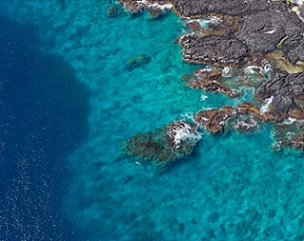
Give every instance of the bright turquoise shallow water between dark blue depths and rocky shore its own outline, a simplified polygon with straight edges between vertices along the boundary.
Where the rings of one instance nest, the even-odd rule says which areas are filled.
[[[79,240],[304,240],[303,155],[273,151],[271,124],[203,132],[165,172],[123,155],[121,143],[138,132],[244,100],[185,85],[181,76],[200,66],[182,61],[175,40],[187,28],[176,15],[132,17],[106,0],[3,0],[0,9],[38,28],[41,51],[61,56],[90,90],[88,137],[62,160],[71,177],[61,212]],[[126,69],[138,54],[151,61]]]

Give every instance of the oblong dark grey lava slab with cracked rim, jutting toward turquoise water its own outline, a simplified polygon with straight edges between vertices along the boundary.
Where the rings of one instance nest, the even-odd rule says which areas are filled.
[[[246,45],[235,38],[209,35],[198,38],[185,35],[179,39],[184,60],[200,64],[240,64],[248,55]]]

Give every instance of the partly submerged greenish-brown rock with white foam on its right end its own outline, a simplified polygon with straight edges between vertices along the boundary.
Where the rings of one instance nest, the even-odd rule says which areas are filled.
[[[153,132],[136,134],[124,143],[124,150],[130,156],[165,167],[191,154],[200,138],[195,125],[176,121]]]

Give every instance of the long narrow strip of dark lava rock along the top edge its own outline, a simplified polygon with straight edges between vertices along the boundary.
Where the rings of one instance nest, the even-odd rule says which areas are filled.
[[[269,8],[267,0],[171,0],[175,10],[184,17],[219,13],[236,16],[257,12]]]

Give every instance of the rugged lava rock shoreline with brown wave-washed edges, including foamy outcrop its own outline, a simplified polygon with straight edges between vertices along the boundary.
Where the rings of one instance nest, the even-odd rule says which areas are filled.
[[[217,134],[224,132],[226,126],[232,126],[240,132],[248,132],[258,128],[262,122],[271,121],[275,123],[274,129],[279,133],[278,143],[285,147],[304,149],[303,128],[297,128],[296,133],[286,137],[280,127],[286,120],[292,119],[296,123],[304,121],[304,7],[299,5],[298,1],[120,2],[132,14],[145,10],[153,17],[158,17],[173,9],[187,21],[191,32],[178,38],[184,61],[213,66],[212,69],[202,67],[195,71],[189,77],[189,86],[237,98],[241,93],[225,81],[227,77],[235,76],[241,80],[238,85],[252,85],[256,88],[252,102],[241,103],[236,107],[223,106],[221,109],[202,110],[195,115],[194,124],[182,122],[183,126],[189,126],[188,132],[185,133],[192,136],[197,132],[195,128],[199,127]],[[208,28],[201,26],[200,21],[203,19],[208,20]],[[256,75],[254,81],[250,74]],[[168,124],[172,125],[180,126],[181,122]],[[300,126],[302,127],[302,124]],[[168,127],[162,130],[167,133],[165,135],[170,136]],[[146,135],[150,134],[138,135],[143,136],[141,139],[136,137],[136,145],[134,137],[128,140],[125,150],[129,155],[143,158],[143,152],[138,150],[138,146],[145,142]],[[175,147],[173,140],[174,138],[166,138],[165,142],[175,151],[189,145],[189,138],[186,137]],[[164,139],[152,145],[163,145],[163,142]],[[189,146],[193,147],[196,142],[197,139]],[[154,148],[150,159],[158,165],[172,163],[173,160],[191,153],[192,148],[186,149],[187,151],[181,151],[181,155],[174,154],[168,161],[161,158],[157,148]]]

